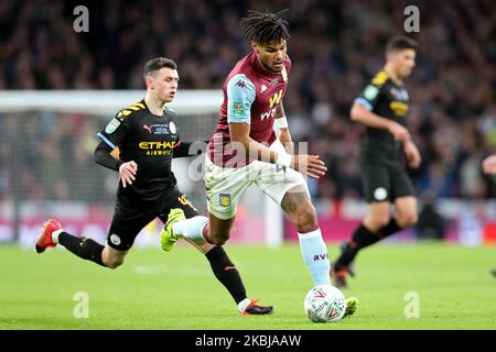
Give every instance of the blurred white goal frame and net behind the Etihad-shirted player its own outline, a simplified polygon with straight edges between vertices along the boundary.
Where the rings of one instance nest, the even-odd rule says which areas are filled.
[[[0,92],[0,242],[32,246],[47,218],[100,243],[114,213],[118,174],[95,164],[93,152],[117,111],[143,98],[142,90]],[[207,141],[217,123],[220,90],[180,90],[169,105],[181,139]],[[176,158],[180,189],[206,215],[204,155]],[[159,245],[160,220],[138,235],[137,246]],[[257,188],[238,206],[230,241],[282,241],[282,215]]]

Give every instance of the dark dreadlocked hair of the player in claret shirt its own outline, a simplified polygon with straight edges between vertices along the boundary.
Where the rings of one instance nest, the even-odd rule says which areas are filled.
[[[280,40],[288,41],[290,38],[288,32],[288,22],[282,20],[282,14],[288,11],[284,9],[277,13],[248,11],[248,16],[239,21],[241,30],[245,32],[249,41],[258,44],[269,44],[279,42]]]

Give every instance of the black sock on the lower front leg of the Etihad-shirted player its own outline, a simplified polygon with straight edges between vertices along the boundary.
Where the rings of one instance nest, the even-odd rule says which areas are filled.
[[[239,276],[238,270],[229,260],[224,249],[216,245],[205,256],[211,262],[215,277],[227,288],[236,304],[247,298],[241,276]]]

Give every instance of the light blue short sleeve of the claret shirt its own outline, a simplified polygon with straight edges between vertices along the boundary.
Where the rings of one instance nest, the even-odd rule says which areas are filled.
[[[251,105],[256,89],[245,75],[236,75],[227,82],[227,122],[251,121]]]

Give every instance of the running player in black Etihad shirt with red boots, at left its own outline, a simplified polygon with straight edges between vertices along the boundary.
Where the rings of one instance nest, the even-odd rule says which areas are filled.
[[[141,229],[157,217],[165,223],[171,209],[177,208],[186,218],[198,216],[177,189],[171,170],[172,157],[190,156],[191,144],[181,143],[175,113],[165,108],[165,103],[175,98],[177,66],[168,58],[153,58],[145,64],[143,78],[145,98],[119,111],[98,133],[101,142],[95,150],[95,161],[118,170],[120,176],[107,244],[104,246],[89,238],[72,235],[56,220],[48,219],[36,241],[36,252],[42,253],[60,243],[84,260],[116,268],[123,263]],[[119,158],[111,155],[117,147]],[[229,290],[241,314],[272,312],[272,307],[258,306],[247,298],[241,277],[222,246],[194,245],[205,254],[215,276]]]

